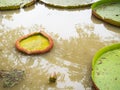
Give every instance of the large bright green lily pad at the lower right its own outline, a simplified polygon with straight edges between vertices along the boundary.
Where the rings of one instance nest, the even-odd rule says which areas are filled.
[[[92,61],[96,90],[120,90],[120,43],[99,50]]]

